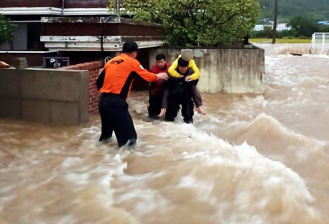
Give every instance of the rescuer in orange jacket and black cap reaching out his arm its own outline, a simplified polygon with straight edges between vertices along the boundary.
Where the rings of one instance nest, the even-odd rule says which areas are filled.
[[[105,64],[96,82],[101,92],[98,106],[101,118],[99,141],[111,138],[114,131],[119,147],[127,143],[132,146],[137,139],[128,104],[125,102],[134,78],[139,75],[148,82],[168,78],[166,73],[154,74],[144,69],[135,59],[137,49],[135,42],[125,42],[122,53]]]

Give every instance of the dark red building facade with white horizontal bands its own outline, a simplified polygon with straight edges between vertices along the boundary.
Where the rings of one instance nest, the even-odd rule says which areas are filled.
[[[66,58],[69,64],[104,60],[117,55],[125,41],[134,40],[148,68],[149,48],[163,45],[163,26],[117,17],[107,4],[108,0],[1,0],[0,13],[15,22],[16,38],[0,45],[0,60],[10,64],[14,57],[26,57],[35,67],[52,66],[52,58]]]

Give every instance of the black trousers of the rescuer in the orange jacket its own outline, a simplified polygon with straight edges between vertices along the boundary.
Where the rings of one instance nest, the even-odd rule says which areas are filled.
[[[128,104],[117,94],[102,93],[99,97],[101,135],[99,141],[112,137],[114,131],[119,147],[136,143],[137,134],[128,111]]]

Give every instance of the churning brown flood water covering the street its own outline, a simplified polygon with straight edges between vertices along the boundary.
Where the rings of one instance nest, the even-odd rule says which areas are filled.
[[[99,144],[99,116],[0,120],[0,223],[328,224],[329,56],[259,46],[264,94],[202,94],[194,124],[151,121],[132,93],[136,151]]]

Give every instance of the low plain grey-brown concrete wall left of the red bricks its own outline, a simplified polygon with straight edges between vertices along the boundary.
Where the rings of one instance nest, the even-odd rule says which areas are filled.
[[[0,69],[0,117],[55,125],[88,122],[88,71]]]

